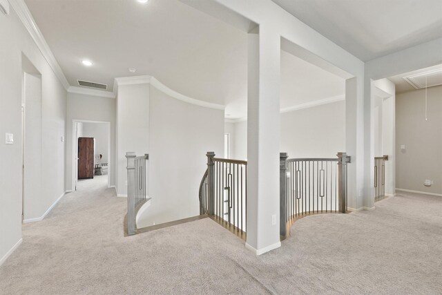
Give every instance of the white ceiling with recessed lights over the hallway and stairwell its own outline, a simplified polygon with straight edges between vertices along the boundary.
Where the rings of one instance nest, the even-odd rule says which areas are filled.
[[[177,0],[25,1],[71,86],[81,79],[112,91],[115,77],[152,75],[183,95],[224,104],[227,117],[247,114],[245,32]],[[282,108],[344,93],[342,78],[282,51]]]

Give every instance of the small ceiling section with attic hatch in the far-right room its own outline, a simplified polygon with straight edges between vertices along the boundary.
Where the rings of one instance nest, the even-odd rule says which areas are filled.
[[[442,85],[442,64],[413,70],[388,79],[396,85],[396,93],[423,89],[425,86],[428,88],[440,86]]]

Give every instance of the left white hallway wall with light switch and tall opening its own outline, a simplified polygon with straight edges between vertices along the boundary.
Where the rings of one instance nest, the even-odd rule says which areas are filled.
[[[41,200],[39,217],[65,191],[61,142],[66,122],[66,90],[32,41],[14,10],[0,14],[0,135],[14,133],[14,144],[0,144],[0,263],[21,239],[21,95],[24,53],[41,73]],[[3,137],[4,138],[4,137]]]

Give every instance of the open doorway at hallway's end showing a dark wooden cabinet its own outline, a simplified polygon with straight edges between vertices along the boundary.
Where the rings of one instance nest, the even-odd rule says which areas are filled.
[[[73,120],[73,188],[110,187],[111,122]]]

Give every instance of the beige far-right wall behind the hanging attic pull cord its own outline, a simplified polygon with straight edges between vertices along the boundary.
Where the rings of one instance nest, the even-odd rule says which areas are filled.
[[[442,86],[396,96],[396,187],[442,195]],[[401,145],[405,150],[401,150]],[[423,185],[433,180],[431,187]]]

